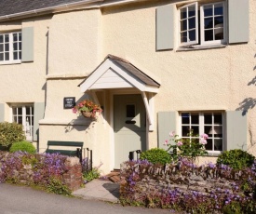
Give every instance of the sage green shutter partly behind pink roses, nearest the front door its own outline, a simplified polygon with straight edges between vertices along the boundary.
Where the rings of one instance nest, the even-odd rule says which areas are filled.
[[[168,149],[164,143],[169,140],[169,132],[176,131],[176,117],[176,112],[158,113],[158,148]]]

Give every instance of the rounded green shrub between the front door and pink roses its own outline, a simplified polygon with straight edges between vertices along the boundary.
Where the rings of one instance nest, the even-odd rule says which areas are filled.
[[[152,164],[165,165],[170,162],[170,154],[164,149],[154,148],[141,153],[141,160],[148,160]]]

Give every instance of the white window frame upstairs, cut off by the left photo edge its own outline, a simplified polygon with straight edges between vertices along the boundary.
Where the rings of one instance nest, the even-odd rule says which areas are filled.
[[[21,51],[21,54],[22,54],[22,50],[21,50],[21,47],[19,48],[19,42],[21,43],[21,46],[22,46],[22,38],[21,40],[19,40],[19,33],[21,34],[20,31],[18,32],[10,32],[10,33],[0,33],[0,35],[3,35],[5,36],[6,34],[9,35],[9,50],[8,50],[8,53],[9,53],[9,60],[0,60],[0,64],[15,64],[15,63],[21,63],[21,58],[19,60],[14,60],[13,59],[13,53],[15,52],[14,48],[13,48],[13,44],[15,43],[14,42],[14,39],[13,39],[13,35],[14,33],[18,33],[18,56],[19,56],[19,51]],[[22,36],[22,34],[21,34]],[[3,42],[3,46],[4,46],[4,50],[3,50],[3,53],[5,54],[5,42]],[[2,53],[2,52],[1,52]],[[19,58],[19,57],[18,57]]]

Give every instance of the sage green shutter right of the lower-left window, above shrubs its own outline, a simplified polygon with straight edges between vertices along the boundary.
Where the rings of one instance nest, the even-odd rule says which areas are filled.
[[[44,118],[45,114],[45,102],[34,102],[34,141],[39,140],[39,120]]]

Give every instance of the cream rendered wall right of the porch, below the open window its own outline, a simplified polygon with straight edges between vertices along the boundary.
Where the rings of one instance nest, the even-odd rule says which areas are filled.
[[[169,1],[159,1],[159,5]],[[193,2],[193,1],[187,1]],[[180,1],[178,1],[181,4]],[[102,9],[102,56],[112,53],[136,61],[161,81],[155,96],[155,116],[160,111],[205,111],[249,109],[248,147],[256,154],[256,112],[251,107],[256,87],[249,82],[256,66],[256,2],[249,1],[249,43],[224,48],[155,51],[155,7],[137,3]],[[176,11],[178,17],[178,11]],[[176,19],[176,47],[178,20]],[[155,124],[155,130],[156,124]],[[150,133],[150,147],[157,145],[156,131]],[[167,136],[168,138],[168,136]]]

